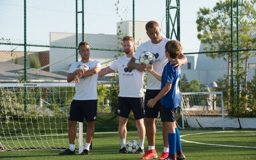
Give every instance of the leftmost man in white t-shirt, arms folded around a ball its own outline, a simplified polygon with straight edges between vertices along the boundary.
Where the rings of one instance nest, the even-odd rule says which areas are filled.
[[[89,154],[89,148],[94,135],[94,122],[97,113],[97,79],[100,72],[100,63],[90,59],[90,46],[87,42],[80,42],[78,45],[79,54],[82,60],[74,62],[68,71],[67,81],[76,81],[76,94],[70,105],[68,120],[69,148],[60,155],[75,154],[76,123],[84,122],[86,119],[86,145],[82,155]],[[79,65],[85,64],[89,70],[77,69]]]

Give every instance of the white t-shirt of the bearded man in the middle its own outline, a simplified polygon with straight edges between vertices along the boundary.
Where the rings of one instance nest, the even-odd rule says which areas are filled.
[[[109,67],[112,70],[118,70],[120,97],[142,97],[143,72],[129,69],[127,63],[130,59],[126,56],[120,57]]]

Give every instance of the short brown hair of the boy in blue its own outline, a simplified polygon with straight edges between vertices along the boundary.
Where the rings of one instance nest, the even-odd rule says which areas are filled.
[[[170,40],[165,44],[165,50],[169,52],[170,58],[176,59],[182,51],[182,45],[178,40]]]

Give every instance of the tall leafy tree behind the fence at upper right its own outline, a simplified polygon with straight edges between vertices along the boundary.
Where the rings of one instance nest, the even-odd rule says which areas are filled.
[[[233,1],[233,15],[236,16],[236,0]],[[239,0],[239,48],[252,49],[256,45],[256,0]],[[197,15],[196,23],[198,25],[198,39],[202,44],[205,44],[204,50],[216,51],[216,50],[231,50],[231,2],[230,0],[220,0],[216,3],[212,9],[200,8]],[[233,21],[233,26],[236,28],[236,19]],[[236,42],[236,29],[233,31],[234,42]],[[234,43],[236,48],[236,43]],[[245,69],[237,68],[236,80],[238,84],[241,84],[241,77],[245,76],[245,83],[247,83],[247,62],[250,56],[254,56],[250,51],[239,52],[241,62],[245,61]],[[217,53],[207,54],[212,58],[224,58],[228,59],[228,86],[230,86],[230,52],[229,53]],[[236,56],[236,53],[234,53]],[[234,58],[234,62],[236,62]],[[244,71],[243,71],[244,70]],[[241,74],[240,72],[245,72]],[[228,89],[229,90],[229,89]],[[244,85],[244,90],[247,90],[247,85]],[[229,92],[228,92],[229,93]]]

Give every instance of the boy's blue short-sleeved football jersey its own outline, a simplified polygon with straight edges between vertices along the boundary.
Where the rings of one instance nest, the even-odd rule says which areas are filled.
[[[161,90],[164,88],[166,82],[172,84],[169,92],[161,98],[161,103],[166,108],[176,108],[180,105],[180,68],[176,70],[176,67],[173,68],[172,66],[170,62],[164,66],[161,79]]]

